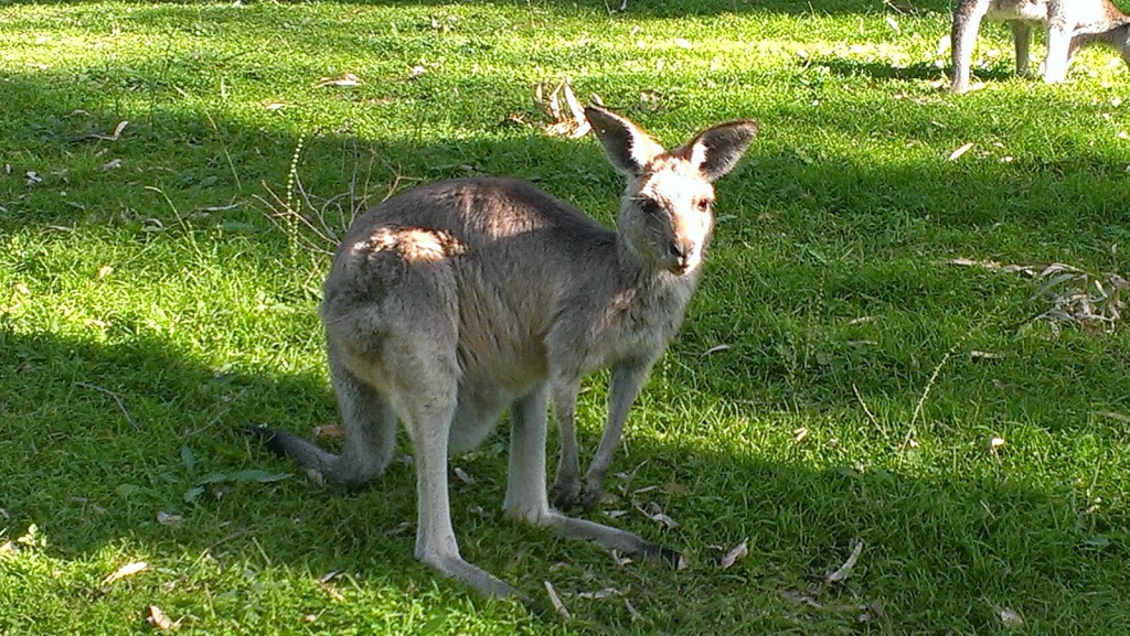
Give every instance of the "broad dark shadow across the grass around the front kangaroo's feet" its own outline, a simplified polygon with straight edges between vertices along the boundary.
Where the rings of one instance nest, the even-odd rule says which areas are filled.
[[[347,572],[362,586],[414,590],[434,578],[411,558],[408,465],[397,462],[351,494],[298,476],[267,483],[234,477],[247,469],[271,479],[292,474],[285,462],[249,450],[236,428],[329,424],[333,403],[320,378],[220,373],[156,338],[92,343],[0,333],[0,359],[9,397],[0,507],[9,535],[34,523],[59,558],[124,546],[174,572],[188,568],[182,576],[192,576],[192,566],[175,555],[207,555],[220,570]],[[593,442],[590,435],[589,448]],[[997,626],[998,604],[1035,618],[1045,607],[1075,611],[1084,595],[1090,618],[1080,618],[1080,628],[1119,616],[1113,608],[1122,599],[1107,585],[1130,561],[1125,530],[1095,525],[1066,493],[956,472],[912,479],[847,463],[812,469],[800,450],[792,460],[767,461],[758,448],[718,454],[636,436],[617,460],[633,476],[610,479],[605,506],[629,514],[609,522],[698,552],[686,572],[618,568],[596,547],[497,517],[504,448],[501,433],[453,460],[476,480],[452,479],[454,523],[464,556],[531,594],[547,580],[572,592],[631,587],[653,626],[696,633],[796,620],[819,631],[869,624],[893,633],[982,633]],[[616,495],[620,487],[627,489]],[[652,502],[681,528],[664,531],[636,514]],[[162,524],[160,513],[182,521]],[[710,547],[747,538],[750,555],[722,572],[721,550]],[[866,546],[857,572],[825,583],[857,539]],[[610,603],[573,603],[598,624],[625,619],[618,603],[611,611]],[[767,613],[749,616],[751,608]]]

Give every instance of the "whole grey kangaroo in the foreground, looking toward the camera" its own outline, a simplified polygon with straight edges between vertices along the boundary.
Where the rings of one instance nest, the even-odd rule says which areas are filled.
[[[460,556],[447,458],[483,442],[506,409],[507,515],[637,557],[680,558],[558,512],[580,491],[574,407],[581,378],[611,367],[607,428],[585,476],[591,498],[697,284],[713,226],[711,183],[737,165],[758,127],[722,123],[667,151],[621,116],[585,114],[627,177],[618,232],[512,178],[443,181],[384,201],[349,228],[321,306],[341,454],[252,428],[328,481],[359,486],[392,458],[399,419],[417,473],[416,557],[487,595],[515,590]],[[562,438],[558,507],[546,489],[550,399]]]

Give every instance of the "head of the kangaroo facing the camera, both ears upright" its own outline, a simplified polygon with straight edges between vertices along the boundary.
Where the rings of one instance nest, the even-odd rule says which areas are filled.
[[[738,164],[757,122],[721,123],[668,151],[615,113],[597,106],[584,113],[609,162],[628,180],[617,219],[621,244],[647,269],[695,271],[714,227],[712,184]]]

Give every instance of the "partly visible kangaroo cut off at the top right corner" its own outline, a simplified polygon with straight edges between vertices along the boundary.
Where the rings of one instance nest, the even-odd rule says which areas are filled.
[[[1032,27],[1037,23],[1048,31],[1044,58],[1044,81],[1048,84],[1067,79],[1071,56],[1090,44],[1106,44],[1118,50],[1130,64],[1130,16],[1111,0],[957,0],[950,36],[954,55],[950,89],[954,93],[970,89],[973,49],[984,18],[1007,21],[1012,28],[1016,71],[1022,76],[1028,75]]]

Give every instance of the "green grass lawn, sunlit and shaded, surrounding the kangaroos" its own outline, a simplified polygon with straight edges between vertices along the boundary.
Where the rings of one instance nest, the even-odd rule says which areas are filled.
[[[1128,275],[1128,71],[1085,51],[1067,85],[1012,78],[990,25],[985,86],[955,97],[947,12],[0,6],[0,631],[159,631],[154,605],[182,634],[1125,633],[1128,330],[1040,319],[1050,279],[991,263]],[[342,73],[360,84],[320,86]],[[268,219],[271,193],[340,226],[390,190],[513,174],[610,221],[597,146],[541,131],[533,87],[564,78],[670,143],[738,116],[762,136],[719,184],[703,287],[605,506],[692,566],[497,519],[503,433],[453,462],[477,480],[453,480],[463,555],[531,611],[412,559],[406,463],[334,493],[237,428],[336,418],[328,259]]]

